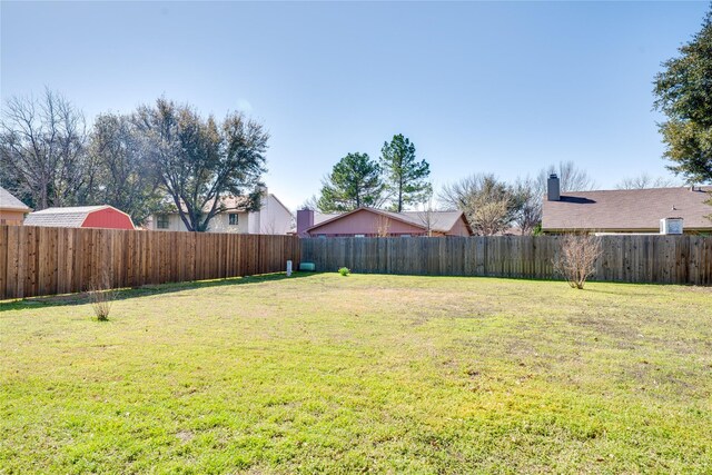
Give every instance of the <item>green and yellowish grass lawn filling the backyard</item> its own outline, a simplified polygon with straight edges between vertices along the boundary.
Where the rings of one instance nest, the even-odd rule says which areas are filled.
[[[338,274],[0,304],[0,473],[712,473],[712,288]]]

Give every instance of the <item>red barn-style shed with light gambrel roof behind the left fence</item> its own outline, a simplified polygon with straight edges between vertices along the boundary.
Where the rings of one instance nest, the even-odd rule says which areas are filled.
[[[136,229],[131,217],[109,205],[47,208],[27,215],[26,226]]]

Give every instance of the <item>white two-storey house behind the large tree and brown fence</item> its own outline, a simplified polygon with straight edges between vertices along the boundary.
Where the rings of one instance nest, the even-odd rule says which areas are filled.
[[[273,194],[265,194],[261,207],[257,211],[247,211],[246,197],[226,197],[220,205],[224,210],[210,219],[208,232],[237,232],[250,235],[286,235],[294,231],[294,215]],[[210,206],[206,206],[206,212]],[[178,212],[167,212],[151,216],[146,229],[186,231],[186,225]]]

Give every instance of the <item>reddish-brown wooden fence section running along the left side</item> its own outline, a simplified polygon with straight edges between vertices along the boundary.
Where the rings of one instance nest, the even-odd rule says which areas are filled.
[[[0,226],[0,298],[281,271],[299,239],[207,232]]]

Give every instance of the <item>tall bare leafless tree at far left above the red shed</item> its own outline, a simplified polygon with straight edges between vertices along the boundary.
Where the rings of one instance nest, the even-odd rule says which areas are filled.
[[[83,115],[61,95],[13,97],[0,121],[0,166],[36,209],[81,204],[93,177],[86,138]]]

